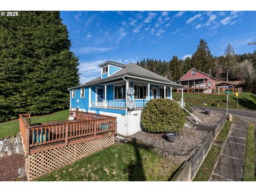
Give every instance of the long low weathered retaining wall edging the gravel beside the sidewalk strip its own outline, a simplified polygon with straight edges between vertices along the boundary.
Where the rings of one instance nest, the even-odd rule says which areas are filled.
[[[196,151],[196,153],[189,159],[189,161],[185,162],[180,170],[174,175],[175,181],[191,181],[194,179],[199,167],[203,163],[208,151],[210,150],[214,139],[219,134],[222,126],[226,122],[226,115],[220,119],[220,121],[214,127],[202,125],[198,126],[198,129],[210,131],[205,140],[203,141],[201,147]]]

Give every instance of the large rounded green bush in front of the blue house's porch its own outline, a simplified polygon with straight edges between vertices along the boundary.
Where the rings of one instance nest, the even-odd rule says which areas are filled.
[[[150,133],[178,132],[185,124],[185,113],[169,99],[149,100],[141,113],[143,129]]]

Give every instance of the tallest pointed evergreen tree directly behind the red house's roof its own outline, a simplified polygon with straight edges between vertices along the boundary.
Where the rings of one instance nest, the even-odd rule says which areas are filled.
[[[206,74],[209,74],[211,70],[211,76],[215,75],[216,68],[214,58],[204,39],[200,40],[196,52],[191,57],[191,67]]]

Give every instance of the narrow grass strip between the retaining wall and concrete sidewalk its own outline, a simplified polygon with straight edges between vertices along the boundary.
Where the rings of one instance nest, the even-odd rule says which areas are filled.
[[[221,143],[226,141],[231,125],[232,125],[232,122],[226,121],[218,137],[215,140],[216,142]],[[212,170],[214,168],[215,163],[218,160],[220,152],[221,152],[221,147],[213,144],[207,156],[205,157],[204,162],[202,163],[201,167],[197,171],[197,174],[194,177],[193,181],[208,181],[210,179]]]

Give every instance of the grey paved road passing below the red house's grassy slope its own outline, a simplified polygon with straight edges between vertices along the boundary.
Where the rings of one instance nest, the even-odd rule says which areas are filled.
[[[203,107],[195,107],[195,108],[203,108]],[[219,110],[219,111],[223,111],[226,113],[226,109],[222,109],[222,108],[205,107],[205,109]],[[256,124],[256,111],[255,110],[228,109],[228,114],[231,114],[232,116],[236,116],[238,118],[244,119],[247,122]]]

